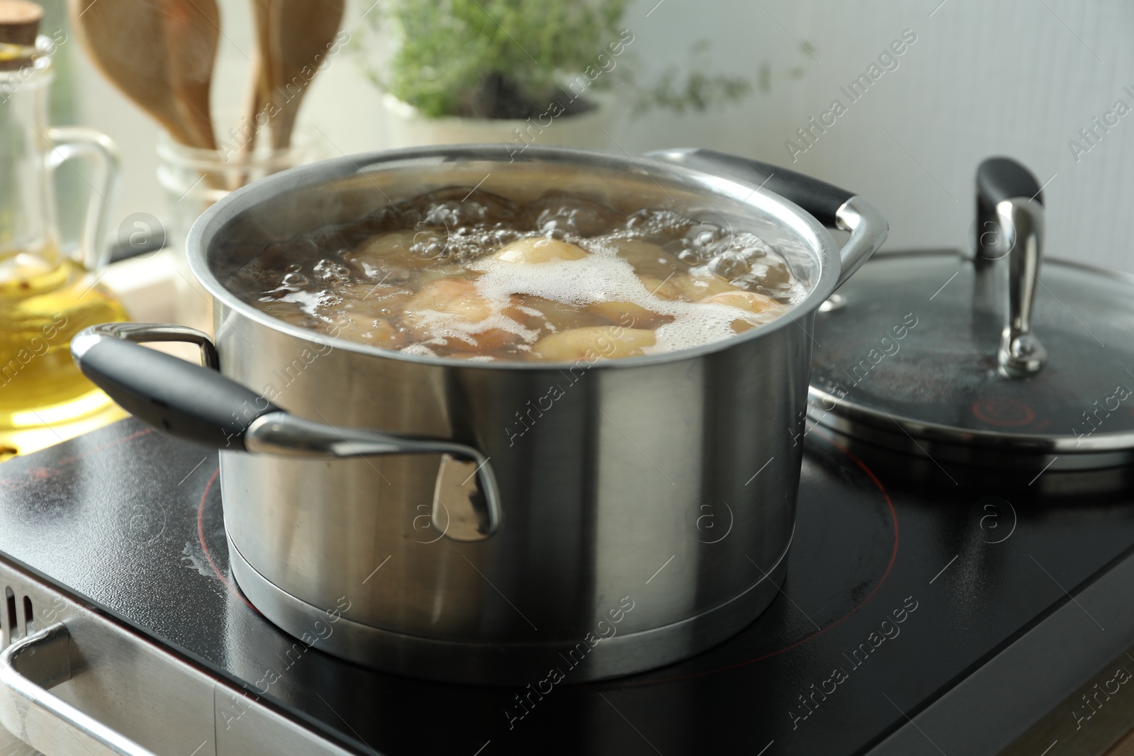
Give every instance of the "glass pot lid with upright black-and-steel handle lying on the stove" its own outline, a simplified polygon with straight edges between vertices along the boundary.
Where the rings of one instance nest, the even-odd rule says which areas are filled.
[[[1134,277],[1041,271],[1042,197],[1017,163],[985,161],[978,196],[975,254],[879,256],[823,305],[809,417],[950,461],[1134,461]]]

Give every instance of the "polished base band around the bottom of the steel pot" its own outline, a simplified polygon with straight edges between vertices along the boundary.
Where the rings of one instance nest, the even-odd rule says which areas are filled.
[[[244,559],[227,529],[226,537],[232,577],[252,605],[288,635],[313,638],[312,647],[340,659],[446,682],[524,685],[545,674],[549,664],[558,663],[560,654],[575,648],[562,642],[501,645],[440,640],[349,620],[282,591]],[[577,668],[572,668],[567,681],[590,682],[644,672],[699,654],[736,635],[779,593],[794,537],[793,525],[776,562],[743,593],[678,622],[604,639],[591,648]],[[328,621],[333,622],[332,632],[325,637],[312,635],[311,628],[316,622]]]

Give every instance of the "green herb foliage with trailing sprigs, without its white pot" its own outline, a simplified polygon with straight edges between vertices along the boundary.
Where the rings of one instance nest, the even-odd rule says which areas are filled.
[[[710,73],[712,43],[700,40],[686,60],[645,80],[634,53],[624,52],[628,42],[611,46],[626,39],[626,6],[627,0],[382,0],[366,20],[372,31],[391,34],[396,52],[382,67],[364,60],[363,68],[375,85],[429,118],[534,118],[581,80],[584,90],[618,82],[635,114],[702,112],[768,93],[776,78],[804,74],[803,65],[775,71],[767,62],[748,76]],[[359,39],[356,51],[365,53],[365,44]],[[802,52],[810,50],[802,43]],[[577,102],[585,110],[586,96]]]

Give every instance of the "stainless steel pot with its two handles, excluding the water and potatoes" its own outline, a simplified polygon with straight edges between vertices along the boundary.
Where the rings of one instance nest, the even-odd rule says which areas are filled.
[[[696,349],[485,364],[324,337],[225,287],[266,244],[454,185],[711,216],[759,233],[809,294]],[[841,253],[820,220],[852,231]],[[138,417],[221,449],[232,574],[297,643],[439,680],[592,680],[708,648],[775,597],[814,314],[886,231],[862,197],[705,151],[359,155],[257,181],[196,223],[215,350],[191,329],[108,324],[73,352]],[[220,373],[128,343],[147,340],[195,341]]]

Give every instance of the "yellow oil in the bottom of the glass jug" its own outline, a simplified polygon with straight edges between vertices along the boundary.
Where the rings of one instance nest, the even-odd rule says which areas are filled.
[[[76,333],[125,320],[121,303],[69,258],[41,252],[0,260],[0,459],[126,416],[70,356]]]

